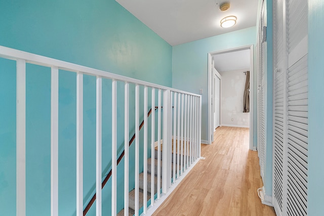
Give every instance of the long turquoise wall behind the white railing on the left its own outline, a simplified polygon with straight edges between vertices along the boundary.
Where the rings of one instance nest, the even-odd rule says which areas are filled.
[[[1,46],[172,85],[172,47],[113,0],[1,1],[0,14]],[[15,68],[14,61],[0,59],[0,215],[16,214]],[[27,64],[26,70],[26,211],[27,215],[50,215],[50,69]],[[60,215],[75,215],[75,79],[75,73],[59,71]],[[110,161],[110,88],[111,81],[103,80],[103,172]],[[121,83],[117,89],[118,96],[124,94]],[[95,183],[95,91],[95,78],[85,76],[84,203]],[[130,92],[134,93],[134,86]],[[123,127],[123,100],[117,100],[119,127]],[[134,122],[132,96],[131,100]],[[141,97],[141,107],[142,103]],[[118,132],[118,150],[124,145],[122,134],[124,131]],[[117,172],[123,178],[123,171]],[[103,214],[110,212],[109,185],[103,190],[103,201],[108,203],[103,205]],[[93,214],[94,208],[90,210]]]

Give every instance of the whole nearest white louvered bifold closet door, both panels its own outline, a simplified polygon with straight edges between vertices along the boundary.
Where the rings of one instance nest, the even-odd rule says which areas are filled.
[[[307,10],[305,0],[273,3],[273,60],[277,69],[274,72],[273,204],[277,215],[307,215]],[[284,34],[280,33],[281,25]],[[283,46],[280,40],[284,41]]]

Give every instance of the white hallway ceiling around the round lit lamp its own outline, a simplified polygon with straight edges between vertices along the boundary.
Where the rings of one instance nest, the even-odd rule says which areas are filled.
[[[170,45],[184,44],[256,25],[258,0],[116,0]],[[219,6],[229,2],[227,11]],[[217,4],[217,6],[216,6]],[[231,28],[220,27],[226,16],[236,16]]]

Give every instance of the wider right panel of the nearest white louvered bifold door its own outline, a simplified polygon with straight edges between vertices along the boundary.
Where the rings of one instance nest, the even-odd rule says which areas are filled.
[[[308,6],[288,0],[287,31],[287,214],[307,215],[308,180]]]

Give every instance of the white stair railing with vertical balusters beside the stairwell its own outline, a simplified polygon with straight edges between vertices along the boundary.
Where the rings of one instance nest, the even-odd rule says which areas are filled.
[[[170,195],[174,188],[185,177],[200,157],[200,131],[201,131],[201,96],[184,91],[164,87],[105,71],[84,67],[44,56],[14,50],[0,46],[0,58],[12,59],[17,62],[17,103],[16,103],[16,214],[26,214],[26,63],[42,65],[51,68],[51,215],[58,215],[58,109],[59,109],[59,70],[76,73],[76,215],[84,214],[84,143],[83,137],[83,75],[96,77],[96,215],[101,215],[102,209],[102,80],[109,79],[111,88],[111,215],[116,215],[120,210],[117,206],[117,164],[118,157],[117,133],[121,128],[117,126],[117,82],[124,84],[124,131],[125,138],[125,167],[124,167],[124,208],[129,207],[129,133],[135,128],[135,215],[142,211],[144,215],[150,215]],[[135,85],[135,95],[130,95],[130,84]],[[142,90],[143,89],[143,90]],[[151,97],[149,97],[150,93]],[[135,97],[135,125],[131,125],[129,118],[130,98]],[[140,103],[141,98],[143,102]],[[141,112],[142,108],[143,111]],[[155,107],[157,106],[157,113]],[[0,108],[1,109],[1,108]],[[151,109],[150,121],[147,110]],[[0,110],[1,111],[1,110]],[[144,118],[144,136],[141,140],[139,123],[140,117]],[[150,122],[150,127],[148,126]],[[150,133],[149,133],[150,132]],[[161,139],[161,137],[163,139]],[[149,140],[151,142],[149,143]],[[157,143],[157,146],[156,146]],[[141,148],[140,148],[141,146]],[[143,148],[142,148],[143,146]],[[155,173],[155,147],[157,147],[157,176]],[[140,150],[143,152],[140,153]],[[160,153],[162,152],[162,153]],[[140,154],[143,158],[140,158]],[[147,159],[151,155],[151,170],[147,169]],[[143,160],[143,167],[140,161]],[[173,163],[172,163],[173,162]],[[162,170],[160,169],[162,167]],[[139,200],[139,174],[144,171],[143,208],[140,211]],[[151,184],[147,185],[148,171],[151,171]],[[157,185],[154,184],[157,178]],[[161,180],[161,184],[160,184]],[[118,180],[119,181],[119,180]],[[157,187],[155,189],[155,187]],[[147,195],[148,188],[150,194]],[[156,193],[155,193],[156,191]],[[147,203],[147,199],[150,202]],[[148,206],[148,207],[147,207]],[[129,215],[128,210],[124,215]]]

